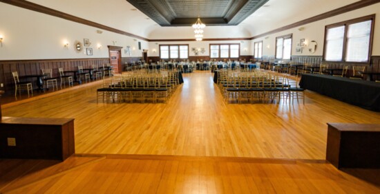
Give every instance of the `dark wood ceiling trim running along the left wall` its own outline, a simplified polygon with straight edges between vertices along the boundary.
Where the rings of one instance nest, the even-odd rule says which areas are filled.
[[[115,32],[117,34],[123,34],[123,35],[126,35],[126,36],[131,36],[131,37],[136,38],[136,39],[141,39],[141,40],[144,40],[144,41],[149,41],[149,39],[146,39],[146,38],[144,38],[142,36],[137,36],[135,34],[131,34],[129,32],[125,32],[125,31],[122,31],[122,30],[117,30],[116,28],[111,28],[111,27],[108,27],[106,25],[102,25],[100,23],[95,23],[93,21],[88,21],[86,19],[75,17],[73,15],[66,14],[64,12],[59,12],[57,10],[53,10],[53,9],[50,9],[50,8],[46,8],[44,6],[40,6],[40,5],[36,4],[36,3],[32,3],[32,2],[29,2],[29,1],[22,1],[22,0],[0,0],[0,2],[8,3],[8,4],[12,5],[12,6],[17,6],[19,8],[25,8],[27,10],[32,10],[32,11],[35,11],[35,12],[41,12],[41,13],[48,14],[48,15],[53,16],[53,17],[59,17],[61,19],[66,19],[66,20],[69,20],[69,21],[74,21],[74,22],[77,22],[77,23],[82,23],[84,25],[89,25],[89,26],[92,26],[92,27],[95,27],[95,28],[99,28],[99,29],[102,29],[102,30],[107,30],[107,31],[110,31],[110,32]]]

